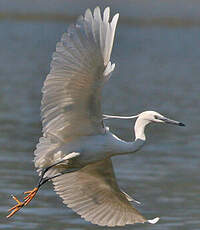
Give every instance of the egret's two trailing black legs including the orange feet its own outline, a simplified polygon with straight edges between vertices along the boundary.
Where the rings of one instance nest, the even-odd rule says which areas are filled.
[[[22,207],[26,206],[28,203],[30,203],[30,201],[35,197],[35,195],[37,194],[39,188],[45,184],[47,181],[55,178],[55,177],[58,177],[58,176],[61,176],[65,173],[70,173],[70,172],[74,172],[74,171],[77,171],[77,169],[73,170],[65,170],[63,172],[60,172],[60,173],[57,173],[56,175],[52,176],[52,177],[44,177],[46,172],[53,168],[54,166],[56,165],[59,165],[63,162],[65,162],[66,160],[68,159],[71,159],[71,158],[74,158],[74,157],[77,157],[79,156],[80,153],[76,153],[76,152],[73,152],[73,153],[70,153],[68,154],[67,156],[65,156],[62,160],[46,167],[45,169],[42,170],[42,173],[41,173],[41,176],[40,176],[40,179],[39,179],[39,182],[38,182],[38,185],[33,189],[33,190],[30,190],[30,191],[26,191],[24,192],[24,194],[27,194],[25,197],[24,197],[24,201],[21,202],[19,201],[15,196],[12,196],[12,198],[17,201],[17,205],[15,205],[14,207],[12,207],[11,209],[8,210],[8,212],[11,212],[9,215],[7,215],[7,218],[10,218],[12,217],[17,211],[19,211]]]

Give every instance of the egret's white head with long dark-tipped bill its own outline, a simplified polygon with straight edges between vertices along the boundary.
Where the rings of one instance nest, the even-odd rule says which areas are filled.
[[[143,113],[140,113],[139,118],[143,119],[147,123],[154,122],[154,123],[164,123],[164,124],[185,126],[182,122],[171,120],[155,111],[145,111]]]

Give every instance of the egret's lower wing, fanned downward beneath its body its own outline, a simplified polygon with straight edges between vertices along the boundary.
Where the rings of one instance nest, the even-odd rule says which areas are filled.
[[[85,220],[101,226],[123,226],[148,221],[120,191],[110,159],[53,179],[63,202]]]

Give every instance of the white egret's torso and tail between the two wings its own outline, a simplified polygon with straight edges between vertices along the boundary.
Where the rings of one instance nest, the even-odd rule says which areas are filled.
[[[44,137],[41,139],[42,143],[43,141]],[[48,167],[55,161],[61,161],[72,152],[80,153],[80,155],[78,159],[72,158],[69,160],[70,167],[77,167],[78,165],[83,167],[89,163],[104,160],[112,156],[133,153],[139,150],[143,144],[144,140],[141,139],[137,139],[137,141],[134,142],[123,141],[106,129],[104,134],[83,136],[76,140],[70,140],[67,143],[58,142],[54,145],[54,151],[51,149],[47,152],[45,161],[41,161],[41,163],[40,159],[36,161],[36,167]],[[44,157],[42,159],[44,159]],[[68,167],[68,165],[66,165],[66,167]]]

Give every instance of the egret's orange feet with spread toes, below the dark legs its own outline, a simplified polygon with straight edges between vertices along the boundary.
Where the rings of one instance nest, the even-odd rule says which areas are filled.
[[[34,196],[36,195],[38,191],[38,188],[34,188],[33,190],[31,191],[27,191],[27,192],[24,192],[24,194],[28,194],[27,196],[24,197],[24,201],[21,202],[17,199],[17,197],[15,196],[12,196],[12,198],[17,201],[17,205],[15,205],[14,207],[12,207],[11,209],[8,210],[8,212],[11,212],[7,218],[10,218],[11,216],[13,216],[17,211],[19,211],[23,206],[26,206],[33,198]]]

